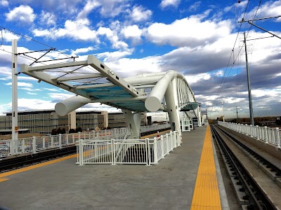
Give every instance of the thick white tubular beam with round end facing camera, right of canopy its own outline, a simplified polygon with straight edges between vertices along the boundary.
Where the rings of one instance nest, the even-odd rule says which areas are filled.
[[[153,87],[148,98],[145,100],[145,108],[148,111],[158,111],[162,106],[162,100],[171,80],[176,76],[175,71],[168,71]]]

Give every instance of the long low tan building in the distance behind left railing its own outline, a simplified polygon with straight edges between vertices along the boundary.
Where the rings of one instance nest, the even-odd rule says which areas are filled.
[[[142,113],[141,125],[148,125],[146,113]],[[95,130],[96,127],[126,127],[124,113],[107,111],[72,111],[67,116],[58,116],[54,110],[19,111],[18,129],[20,132],[51,134],[60,128],[66,131],[81,127],[81,130]],[[11,133],[12,114],[0,116],[0,134]]]

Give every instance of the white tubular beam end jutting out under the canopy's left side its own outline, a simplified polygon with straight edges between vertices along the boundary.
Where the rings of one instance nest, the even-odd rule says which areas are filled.
[[[55,104],[55,112],[59,116],[65,116],[67,115],[67,113],[70,113],[75,109],[78,109],[79,107],[84,106],[85,104],[88,104],[90,102],[91,99],[87,99],[81,96],[74,96],[64,100],[63,102],[59,102],[58,104]]]

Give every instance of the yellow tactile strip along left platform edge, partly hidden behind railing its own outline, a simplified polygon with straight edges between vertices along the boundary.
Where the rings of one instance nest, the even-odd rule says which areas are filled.
[[[167,131],[164,131],[164,132],[167,132]],[[164,132],[159,132],[159,134],[164,133]],[[141,137],[141,139],[145,139],[145,138],[151,137],[153,135],[155,135],[155,134],[150,134],[148,136]],[[50,160],[48,162],[41,162],[41,163],[39,163],[37,165],[31,165],[29,167],[23,167],[21,169],[15,169],[15,170],[13,170],[11,172],[4,172],[4,173],[0,174],[0,182],[8,180],[6,178],[3,178],[5,176],[10,176],[10,175],[18,174],[18,173],[21,173],[21,172],[26,172],[26,171],[31,170],[31,169],[36,169],[36,168],[39,168],[39,167],[44,167],[46,165],[51,165],[51,164],[53,164],[55,162],[60,162],[60,161],[67,160],[67,159],[70,159],[70,158],[77,158],[77,154],[69,155],[69,156],[66,156],[66,157],[63,157],[63,158],[58,158],[58,159],[55,159],[55,160]]]

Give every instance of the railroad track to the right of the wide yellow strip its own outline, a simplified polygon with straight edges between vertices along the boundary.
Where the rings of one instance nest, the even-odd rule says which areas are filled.
[[[279,167],[219,127],[212,125],[211,132],[242,209],[279,209]]]

